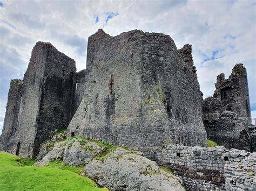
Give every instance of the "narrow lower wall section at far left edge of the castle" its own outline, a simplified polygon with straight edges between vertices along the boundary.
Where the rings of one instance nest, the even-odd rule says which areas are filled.
[[[17,131],[18,112],[21,104],[23,91],[23,81],[19,79],[11,80],[8,93],[8,103],[4,118],[4,127],[1,135],[2,148],[1,151],[6,151],[9,148],[11,136]]]

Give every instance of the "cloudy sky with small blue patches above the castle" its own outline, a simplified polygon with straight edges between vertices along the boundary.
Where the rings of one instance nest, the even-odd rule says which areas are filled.
[[[256,117],[256,1],[12,1],[0,0],[0,134],[11,79],[23,79],[33,46],[50,42],[86,67],[87,39],[98,29],[111,36],[139,29],[169,34],[177,48],[192,44],[200,89],[212,96],[216,76],[247,68]]]

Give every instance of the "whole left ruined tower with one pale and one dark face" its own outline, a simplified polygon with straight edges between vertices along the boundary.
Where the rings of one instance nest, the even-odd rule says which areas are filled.
[[[2,135],[3,150],[32,157],[51,131],[68,126],[75,61],[50,43],[33,47],[22,80],[12,80]]]

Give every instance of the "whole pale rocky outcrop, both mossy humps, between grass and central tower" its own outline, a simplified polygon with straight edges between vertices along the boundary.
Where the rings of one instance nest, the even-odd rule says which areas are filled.
[[[180,178],[142,153],[82,137],[57,142],[36,165],[62,160],[84,165],[85,174],[111,190],[185,190]]]

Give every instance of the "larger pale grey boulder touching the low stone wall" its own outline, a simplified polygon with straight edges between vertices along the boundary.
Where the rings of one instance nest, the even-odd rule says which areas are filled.
[[[111,190],[184,190],[181,179],[136,152],[117,148],[85,166],[87,176]]]

